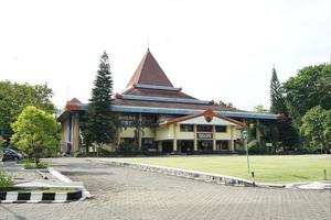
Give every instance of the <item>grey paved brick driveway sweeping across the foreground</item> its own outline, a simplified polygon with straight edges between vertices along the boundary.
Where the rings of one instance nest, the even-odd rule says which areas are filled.
[[[0,219],[331,219],[331,191],[222,186],[114,167],[82,158],[51,160],[95,199],[0,205]]]

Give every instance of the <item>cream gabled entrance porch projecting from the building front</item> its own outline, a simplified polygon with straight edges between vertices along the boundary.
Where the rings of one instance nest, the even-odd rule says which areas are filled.
[[[156,131],[158,151],[166,153],[234,152],[246,124],[206,110],[164,121]]]

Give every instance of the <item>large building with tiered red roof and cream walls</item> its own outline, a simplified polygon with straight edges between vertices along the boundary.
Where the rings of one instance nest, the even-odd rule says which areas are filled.
[[[87,109],[78,99],[68,101],[61,122],[62,151],[82,148],[82,120]],[[259,142],[260,122],[274,123],[276,114],[242,111],[199,100],[175,88],[150,51],[146,53],[127,88],[114,98],[113,111],[121,128],[106,147],[129,144],[151,152],[235,152],[243,147],[242,131],[253,129],[250,141]]]

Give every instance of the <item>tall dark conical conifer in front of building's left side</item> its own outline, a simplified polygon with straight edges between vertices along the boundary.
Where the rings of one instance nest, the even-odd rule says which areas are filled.
[[[104,52],[83,125],[86,152],[88,152],[88,146],[92,143],[103,144],[114,141],[118,119],[116,113],[111,111],[111,106],[113,77],[108,55]]]

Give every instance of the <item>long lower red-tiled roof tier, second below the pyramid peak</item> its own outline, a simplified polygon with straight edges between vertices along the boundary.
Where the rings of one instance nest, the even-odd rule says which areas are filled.
[[[174,109],[193,109],[213,111],[241,111],[234,108],[222,107],[217,105],[199,105],[199,103],[178,103],[178,102],[162,102],[162,101],[143,101],[143,100],[128,100],[116,98],[114,105],[117,106],[134,106],[134,107],[151,107],[151,108],[174,108]],[[244,112],[244,111],[241,111]]]

